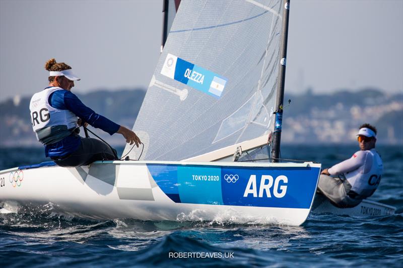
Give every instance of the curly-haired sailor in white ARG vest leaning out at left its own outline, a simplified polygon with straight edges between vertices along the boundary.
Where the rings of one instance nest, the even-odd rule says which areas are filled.
[[[97,160],[115,160],[116,151],[108,144],[79,136],[79,127],[90,124],[113,135],[120,133],[127,143],[139,137],[131,130],[95,113],[71,92],[74,81],[80,80],[72,68],[55,59],[45,64],[49,86],[35,93],[30,102],[32,128],[38,141],[45,146],[45,155],[59,166],[88,165]]]

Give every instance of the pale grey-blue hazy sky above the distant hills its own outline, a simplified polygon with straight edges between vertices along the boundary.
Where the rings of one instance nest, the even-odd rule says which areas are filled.
[[[162,15],[162,0],[0,0],[0,101],[42,90],[52,57],[76,92],[147,88]],[[403,92],[403,1],[292,0],[285,87]]]

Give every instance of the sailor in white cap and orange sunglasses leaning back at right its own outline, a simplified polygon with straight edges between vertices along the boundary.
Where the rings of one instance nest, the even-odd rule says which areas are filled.
[[[376,128],[363,124],[357,134],[360,151],[341,163],[323,169],[318,189],[340,208],[352,208],[377,189],[383,172],[382,159],[375,150]]]

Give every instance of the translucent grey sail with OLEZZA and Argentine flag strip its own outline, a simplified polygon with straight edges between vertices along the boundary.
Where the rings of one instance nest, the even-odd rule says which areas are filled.
[[[280,0],[181,1],[133,127],[141,159],[183,160],[267,140],[283,9]]]

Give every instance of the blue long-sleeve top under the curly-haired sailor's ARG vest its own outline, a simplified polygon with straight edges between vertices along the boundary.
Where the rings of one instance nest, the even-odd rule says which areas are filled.
[[[53,108],[60,110],[70,110],[76,116],[93,126],[100,128],[110,135],[119,130],[119,125],[95,113],[92,109],[85,106],[76,95],[70,91],[59,90],[49,96],[49,104]],[[68,155],[80,146],[81,138],[79,136],[68,136],[53,144],[45,145],[45,155],[50,157],[61,157]]]

